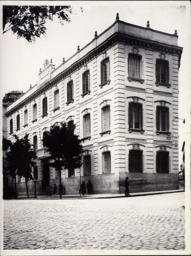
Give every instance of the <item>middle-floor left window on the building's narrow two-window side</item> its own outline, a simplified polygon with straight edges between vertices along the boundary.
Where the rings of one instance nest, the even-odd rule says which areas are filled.
[[[142,129],[142,105],[129,103],[129,129]]]

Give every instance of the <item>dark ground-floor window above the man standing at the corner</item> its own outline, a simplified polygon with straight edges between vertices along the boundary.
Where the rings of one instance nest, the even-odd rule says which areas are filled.
[[[129,172],[143,172],[143,153],[140,150],[129,150]]]

